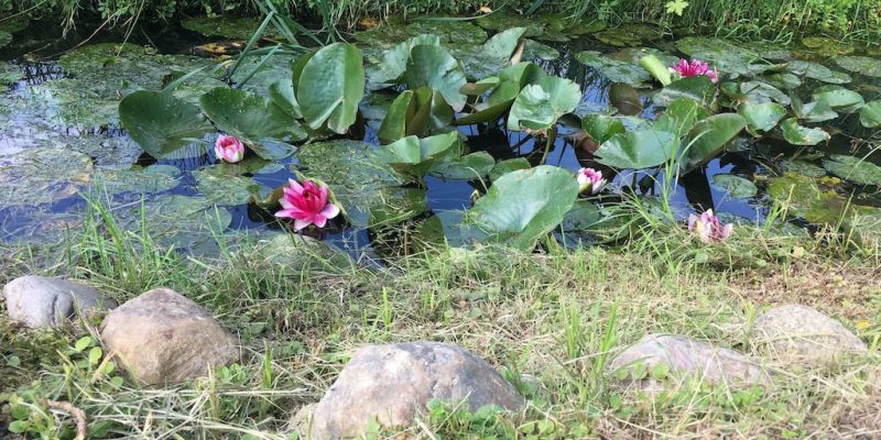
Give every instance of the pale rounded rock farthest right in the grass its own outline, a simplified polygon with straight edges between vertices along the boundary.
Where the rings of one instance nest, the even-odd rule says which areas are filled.
[[[765,311],[752,327],[753,343],[774,361],[824,367],[847,354],[866,353],[864,342],[819,311],[786,305]]]

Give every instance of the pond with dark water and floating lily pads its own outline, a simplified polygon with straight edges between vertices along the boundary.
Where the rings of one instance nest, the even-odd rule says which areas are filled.
[[[61,37],[55,26],[41,22],[0,24],[0,32],[12,35],[11,42],[0,47],[0,84],[4,88],[0,96],[0,182],[6,188],[0,195],[0,240],[57,241],[76,233],[95,215],[95,202],[99,202],[123,229],[135,233],[146,230],[161,243],[184,251],[211,253],[224,238],[236,241],[242,235],[291,231],[291,224],[278,221],[270,207],[273,190],[300,174],[329,184],[346,211],[345,220],[340,216],[326,228],[307,228],[303,233],[355,256],[382,257],[411,252],[417,243],[437,241],[438,237],[467,242],[474,231],[450,230],[472,208],[475,197],[485,194],[503,172],[535,167],[542,160],[573,175],[580,167],[597,168],[609,180],[599,195],[581,196],[574,205],[569,201],[574,209],[566,213],[561,228],[561,221],[550,228],[542,226],[558,232],[566,245],[608,242],[614,235],[609,229],[620,222],[603,219],[620,216],[616,207],[621,200],[638,196],[654,206],[651,204],[667,189],[674,219],[679,221],[692,212],[714,209],[726,222],[762,224],[775,204],[785,204],[792,221],[780,223],[776,216],[773,219],[774,228],[788,233],[839,224],[841,220],[861,231],[878,231],[881,223],[881,154],[875,152],[881,140],[881,57],[871,48],[816,37],[794,45],[737,43],[672,35],[650,24],[609,30],[596,22],[559,24],[553,18],[523,22],[500,15],[476,23],[409,24],[392,20],[388,25],[347,35],[363,54],[368,91],[358,105],[357,119],[338,131],[342,134],[323,128],[322,133],[311,131],[309,143],[300,135],[305,132],[261,139],[260,146],[254,146],[259,155],[254,150],[239,164],[224,164],[208,147],[218,131],[210,125],[199,130],[170,107],[174,111],[166,109],[155,118],[166,121],[166,128],[178,123],[178,131],[195,133],[197,139],[182,135],[171,150],[171,141],[164,139],[161,154],[146,153],[150,147],[143,138],[132,140],[118,112],[120,101],[135,90],[159,90],[186,73],[203,69],[175,88],[174,99],[193,108],[202,103],[211,121],[221,127],[219,119],[231,118],[220,114],[227,110],[206,108],[202,98],[215,89],[229,89],[224,80],[268,96],[280,78],[291,77],[290,64],[297,56],[284,51],[263,64],[259,57],[249,58],[231,73],[233,63],[224,62],[228,56],[218,52],[241,50],[241,40],[247,40],[258,21],[228,21],[196,19],[162,29],[135,28],[130,34],[101,32],[88,41],[88,35],[75,32]],[[489,40],[518,24],[523,28],[513,37]],[[580,98],[573,92],[568,98],[557,97],[575,99],[574,108],[555,114],[550,130],[509,130],[503,121],[496,123],[502,113],[490,123],[458,125],[464,140],[460,154],[427,167],[420,173],[424,178],[403,178],[398,173],[401,169],[377,167],[373,155],[377,145],[390,143],[383,139],[388,134],[383,119],[407,88],[395,80],[402,73],[394,70],[388,54],[423,34],[437,35],[436,43],[463,62],[469,85],[479,85],[475,80],[486,77],[498,80],[500,72],[503,81],[508,70],[502,69],[511,52],[521,51],[518,56],[522,61],[533,62],[550,77],[563,78],[545,81],[546,87],[574,84]],[[262,44],[272,46],[273,38],[278,35],[270,33]],[[120,45],[123,41],[127,44]],[[429,45],[434,43],[417,47]],[[433,51],[423,52],[434,56]],[[504,56],[496,57],[500,51]],[[704,59],[722,78],[719,84],[710,84],[706,77],[697,77],[706,84],[685,78],[662,87],[653,78],[651,66],[640,63],[646,55],[664,67],[679,57]],[[428,89],[434,106],[438,90],[443,90],[437,81],[445,79],[433,73],[425,75],[429,77],[426,84],[434,89],[434,98]],[[486,90],[494,90],[491,87],[496,85],[488,85]],[[707,90],[711,90],[709,98]],[[482,94],[485,98],[475,108],[490,107],[486,105],[487,94],[490,91]],[[238,97],[215,95],[217,102],[243,106],[236,101]],[[461,120],[474,116],[469,109],[478,95],[442,95],[440,101],[456,109]],[[468,102],[457,106],[459,98]],[[684,175],[672,187],[665,185],[663,166],[640,166],[633,156],[639,155],[633,148],[654,140],[639,134],[621,135],[618,141],[591,139],[597,135],[586,122],[590,119],[583,120],[588,114],[611,116],[627,133],[644,134],[651,132],[653,121],[659,123],[660,116],[674,114],[670,109],[682,98],[714,112],[739,108],[747,130],[739,127],[736,136],[721,142],[725,148],[707,155],[707,161],[701,156],[682,165]],[[138,109],[149,105],[129,102]],[[548,107],[554,103],[548,102]],[[250,121],[250,129],[242,123],[227,124],[242,132],[262,133],[273,122]],[[199,119],[198,124],[207,122]],[[548,131],[556,136],[545,144]],[[443,130],[431,134],[439,132]],[[429,133],[421,134],[424,139]],[[692,141],[703,142],[697,138]],[[616,142],[618,153],[631,156],[612,158],[616,152],[609,148]],[[546,157],[545,146],[550,146]],[[627,161],[637,163],[628,166]],[[394,165],[391,160],[387,163]],[[565,193],[553,186],[543,190]],[[501,197],[492,195],[497,196]],[[512,197],[505,204],[529,209],[530,200]],[[553,197],[546,201],[553,204]]]

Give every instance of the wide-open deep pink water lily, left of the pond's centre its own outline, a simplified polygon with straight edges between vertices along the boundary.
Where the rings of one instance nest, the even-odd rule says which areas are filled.
[[[309,224],[324,228],[328,219],[339,215],[339,208],[327,201],[327,185],[303,180],[303,185],[294,179],[289,179],[284,187],[284,195],[279,202],[282,210],[275,217],[294,219],[294,229],[297,231]]]

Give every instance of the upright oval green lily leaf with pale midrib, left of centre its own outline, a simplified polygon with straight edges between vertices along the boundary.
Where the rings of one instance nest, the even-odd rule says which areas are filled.
[[[347,43],[334,43],[316,52],[296,82],[300,108],[309,128],[318,130],[326,123],[340,134],[355,123],[363,91],[361,53]]]

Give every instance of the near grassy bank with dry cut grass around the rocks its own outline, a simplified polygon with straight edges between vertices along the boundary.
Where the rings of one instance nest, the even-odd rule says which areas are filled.
[[[95,439],[292,438],[292,416],[320,398],[354,348],[433,340],[487,359],[530,404],[513,417],[436,408],[411,431],[421,438],[879,432],[877,254],[842,254],[829,241],[771,238],[749,228],[710,246],[668,226],[644,232],[623,248],[559,254],[442,250],[382,270],[333,266],[317,257],[275,265],[248,246],[220,257],[185,257],[107,222],[77,232],[63,252],[7,248],[3,283],[29,273],[67,275],[120,302],[172,287],[238,333],[244,355],[195,383],[141,388],[119,371],[108,372],[100,358],[88,359],[98,321],[52,333],[0,321],[0,425],[29,420],[29,438],[72,438],[72,420],[46,408],[46,400],[68,400],[87,414]],[[674,385],[654,400],[621,393],[603,374],[616,348],[650,332],[757,354],[746,323],[786,302],[841,319],[875,354],[831,373],[780,366],[766,388]]]

